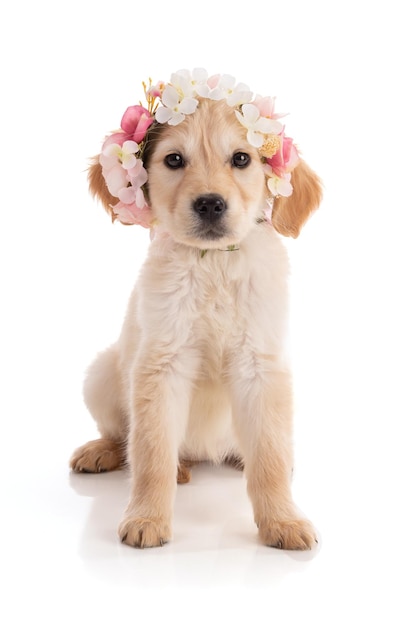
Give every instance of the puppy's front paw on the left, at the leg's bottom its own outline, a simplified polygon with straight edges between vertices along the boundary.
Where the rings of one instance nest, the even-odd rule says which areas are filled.
[[[163,546],[171,537],[170,526],[159,519],[127,517],[119,526],[122,543],[135,548]]]

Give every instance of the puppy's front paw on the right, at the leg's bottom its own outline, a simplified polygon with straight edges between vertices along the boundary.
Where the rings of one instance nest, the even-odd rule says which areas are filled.
[[[310,550],[316,533],[307,520],[272,521],[259,525],[259,536],[267,546],[283,550]]]

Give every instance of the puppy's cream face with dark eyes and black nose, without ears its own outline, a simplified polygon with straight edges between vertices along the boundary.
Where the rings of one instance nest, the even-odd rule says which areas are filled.
[[[201,100],[178,126],[160,127],[150,146],[148,199],[164,230],[201,249],[240,242],[268,191],[258,151],[234,110]]]

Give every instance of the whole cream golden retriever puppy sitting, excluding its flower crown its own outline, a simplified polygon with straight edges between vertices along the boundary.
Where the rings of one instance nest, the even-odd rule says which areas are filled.
[[[235,114],[240,105],[194,100],[180,123],[155,116],[147,129],[143,189],[154,237],[121,335],[85,380],[101,438],[76,450],[71,468],[129,466],[119,536],[143,548],[170,540],[176,483],[189,480],[193,463],[231,462],[244,468],[262,542],[308,549],[315,531],[290,488],[288,260],[279,233],[298,236],[321,185],[299,159],[287,178],[293,193],[273,199],[269,220],[273,194],[262,151]],[[98,157],[89,181],[114,215]]]

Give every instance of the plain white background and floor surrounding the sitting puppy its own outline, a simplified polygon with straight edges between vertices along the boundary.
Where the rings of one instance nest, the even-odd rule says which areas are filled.
[[[404,623],[400,3],[3,3],[2,623]],[[119,332],[147,247],[87,192],[87,157],[180,68],[290,112],[324,181],[292,260],[294,494],[320,545],[259,545],[243,477],[199,467],[174,541],[121,546],[122,473],[71,476],[96,436],[83,373]]]

